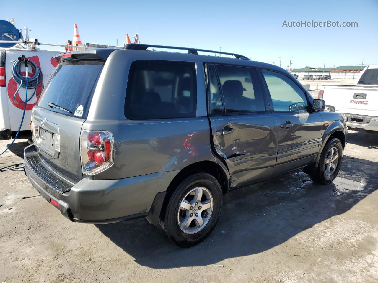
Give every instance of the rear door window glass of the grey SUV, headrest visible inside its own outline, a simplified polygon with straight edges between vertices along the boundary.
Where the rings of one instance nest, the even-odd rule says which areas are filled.
[[[217,65],[226,113],[265,111],[263,94],[253,68]]]

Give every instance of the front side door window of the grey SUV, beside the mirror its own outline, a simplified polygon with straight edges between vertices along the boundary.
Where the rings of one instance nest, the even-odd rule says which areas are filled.
[[[306,111],[306,95],[290,78],[279,72],[262,70],[274,111]]]

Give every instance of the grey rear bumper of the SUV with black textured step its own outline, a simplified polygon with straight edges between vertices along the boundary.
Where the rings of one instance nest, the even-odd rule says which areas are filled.
[[[65,182],[56,172],[50,171],[42,160],[38,158],[39,167],[43,166],[50,174],[41,174],[34,169],[35,166],[30,166],[27,158],[32,156],[38,158],[34,145],[24,149],[25,174],[31,184],[65,217],[80,223],[105,224],[143,217],[147,217],[150,223],[155,223],[153,217],[158,217],[164,200],[162,195],[165,196],[170,181],[178,172],[158,172],[116,180],[83,178],[69,191],[64,191],[51,185],[49,180],[44,180],[51,180],[53,174],[55,183]],[[59,207],[51,200],[58,203]]]

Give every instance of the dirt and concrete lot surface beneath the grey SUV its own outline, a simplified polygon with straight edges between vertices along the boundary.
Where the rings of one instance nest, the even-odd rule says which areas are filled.
[[[26,145],[17,140],[1,167],[22,162]],[[231,192],[214,232],[190,249],[145,219],[72,223],[24,172],[1,172],[0,281],[378,282],[377,149],[378,135],[350,132],[333,184],[295,171]]]

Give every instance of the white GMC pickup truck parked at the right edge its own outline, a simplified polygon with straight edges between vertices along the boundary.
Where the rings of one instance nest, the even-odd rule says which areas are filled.
[[[367,66],[355,85],[324,86],[318,98],[326,111],[345,114],[348,129],[378,133],[378,65]]]

